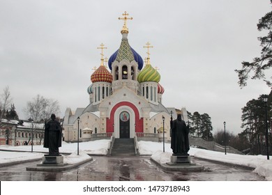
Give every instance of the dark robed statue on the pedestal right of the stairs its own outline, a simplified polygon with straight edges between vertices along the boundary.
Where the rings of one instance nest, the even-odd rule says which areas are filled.
[[[188,155],[189,146],[189,128],[186,126],[184,120],[181,119],[181,114],[178,114],[176,120],[170,122],[172,135],[171,135],[171,148],[173,156]]]

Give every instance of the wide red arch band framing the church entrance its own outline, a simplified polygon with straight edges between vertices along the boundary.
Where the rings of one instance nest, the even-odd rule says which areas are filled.
[[[113,124],[114,124],[115,111],[119,107],[123,107],[123,106],[130,107],[131,109],[133,109],[135,113],[135,124],[136,124],[135,132],[144,132],[144,123],[143,123],[144,119],[139,118],[139,111],[137,107],[135,107],[135,105],[130,102],[119,102],[112,108],[112,111],[110,111],[109,118],[107,118],[107,132],[114,132]]]

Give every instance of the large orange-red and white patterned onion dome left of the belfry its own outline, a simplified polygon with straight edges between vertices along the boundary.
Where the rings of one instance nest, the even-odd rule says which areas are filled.
[[[100,65],[99,68],[91,75],[91,81],[112,83],[112,74],[105,68],[104,65]]]

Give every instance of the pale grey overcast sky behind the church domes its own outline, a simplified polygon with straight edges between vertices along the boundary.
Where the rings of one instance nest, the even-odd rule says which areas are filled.
[[[257,22],[269,0],[0,0],[0,92],[9,86],[20,118],[36,95],[66,107],[89,104],[86,89],[100,65],[103,42],[109,58],[121,43],[127,11],[130,46],[158,67],[165,107],[186,107],[211,116],[213,130],[241,132],[241,108],[267,94],[264,81],[241,89],[235,69],[259,56]],[[213,132],[213,133],[214,133]]]

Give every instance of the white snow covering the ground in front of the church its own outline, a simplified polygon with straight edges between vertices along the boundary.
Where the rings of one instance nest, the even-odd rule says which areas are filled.
[[[163,143],[152,141],[139,141],[140,155],[151,155],[151,158],[164,164],[170,161],[172,150],[169,143],[165,143],[165,153],[163,153]],[[88,141],[80,143],[80,156],[77,155],[77,143],[62,143],[59,148],[61,153],[71,153],[64,158],[64,162],[68,164],[76,163],[82,159],[86,159],[89,155],[106,155],[109,147],[109,140]],[[43,157],[43,153],[47,153],[48,149],[43,146],[33,146],[33,153],[31,146],[0,146],[0,150],[17,150],[18,152],[0,151],[0,164],[17,162],[27,159],[36,159]],[[20,152],[24,151],[24,152]],[[26,152],[29,151],[29,152]],[[43,153],[40,153],[43,152]],[[266,159],[263,155],[235,155],[219,153],[211,150],[203,150],[199,148],[190,148],[189,154],[195,157],[204,159],[211,159],[220,162],[227,162],[231,164],[239,164],[243,166],[250,166],[255,168],[255,172],[260,176],[264,176],[266,180],[272,180],[272,160]]]

